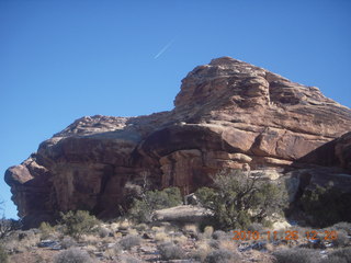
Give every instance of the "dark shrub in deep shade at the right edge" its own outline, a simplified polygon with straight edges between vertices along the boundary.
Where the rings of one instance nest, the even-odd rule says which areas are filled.
[[[351,221],[351,194],[342,193],[332,185],[317,185],[313,190],[306,190],[301,204],[303,210],[312,217],[310,224],[316,227]]]

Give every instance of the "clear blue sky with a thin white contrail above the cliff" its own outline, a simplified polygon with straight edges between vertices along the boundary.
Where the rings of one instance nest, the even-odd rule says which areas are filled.
[[[220,56],[350,107],[350,14],[348,0],[0,0],[0,173],[81,116],[171,110],[181,79]]]

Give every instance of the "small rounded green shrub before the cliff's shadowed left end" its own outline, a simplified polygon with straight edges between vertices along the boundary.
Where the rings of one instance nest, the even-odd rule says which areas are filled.
[[[81,235],[91,232],[99,220],[89,211],[77,210],[76,213],[61,214],[61,222],[66,235],[79,239]]]

